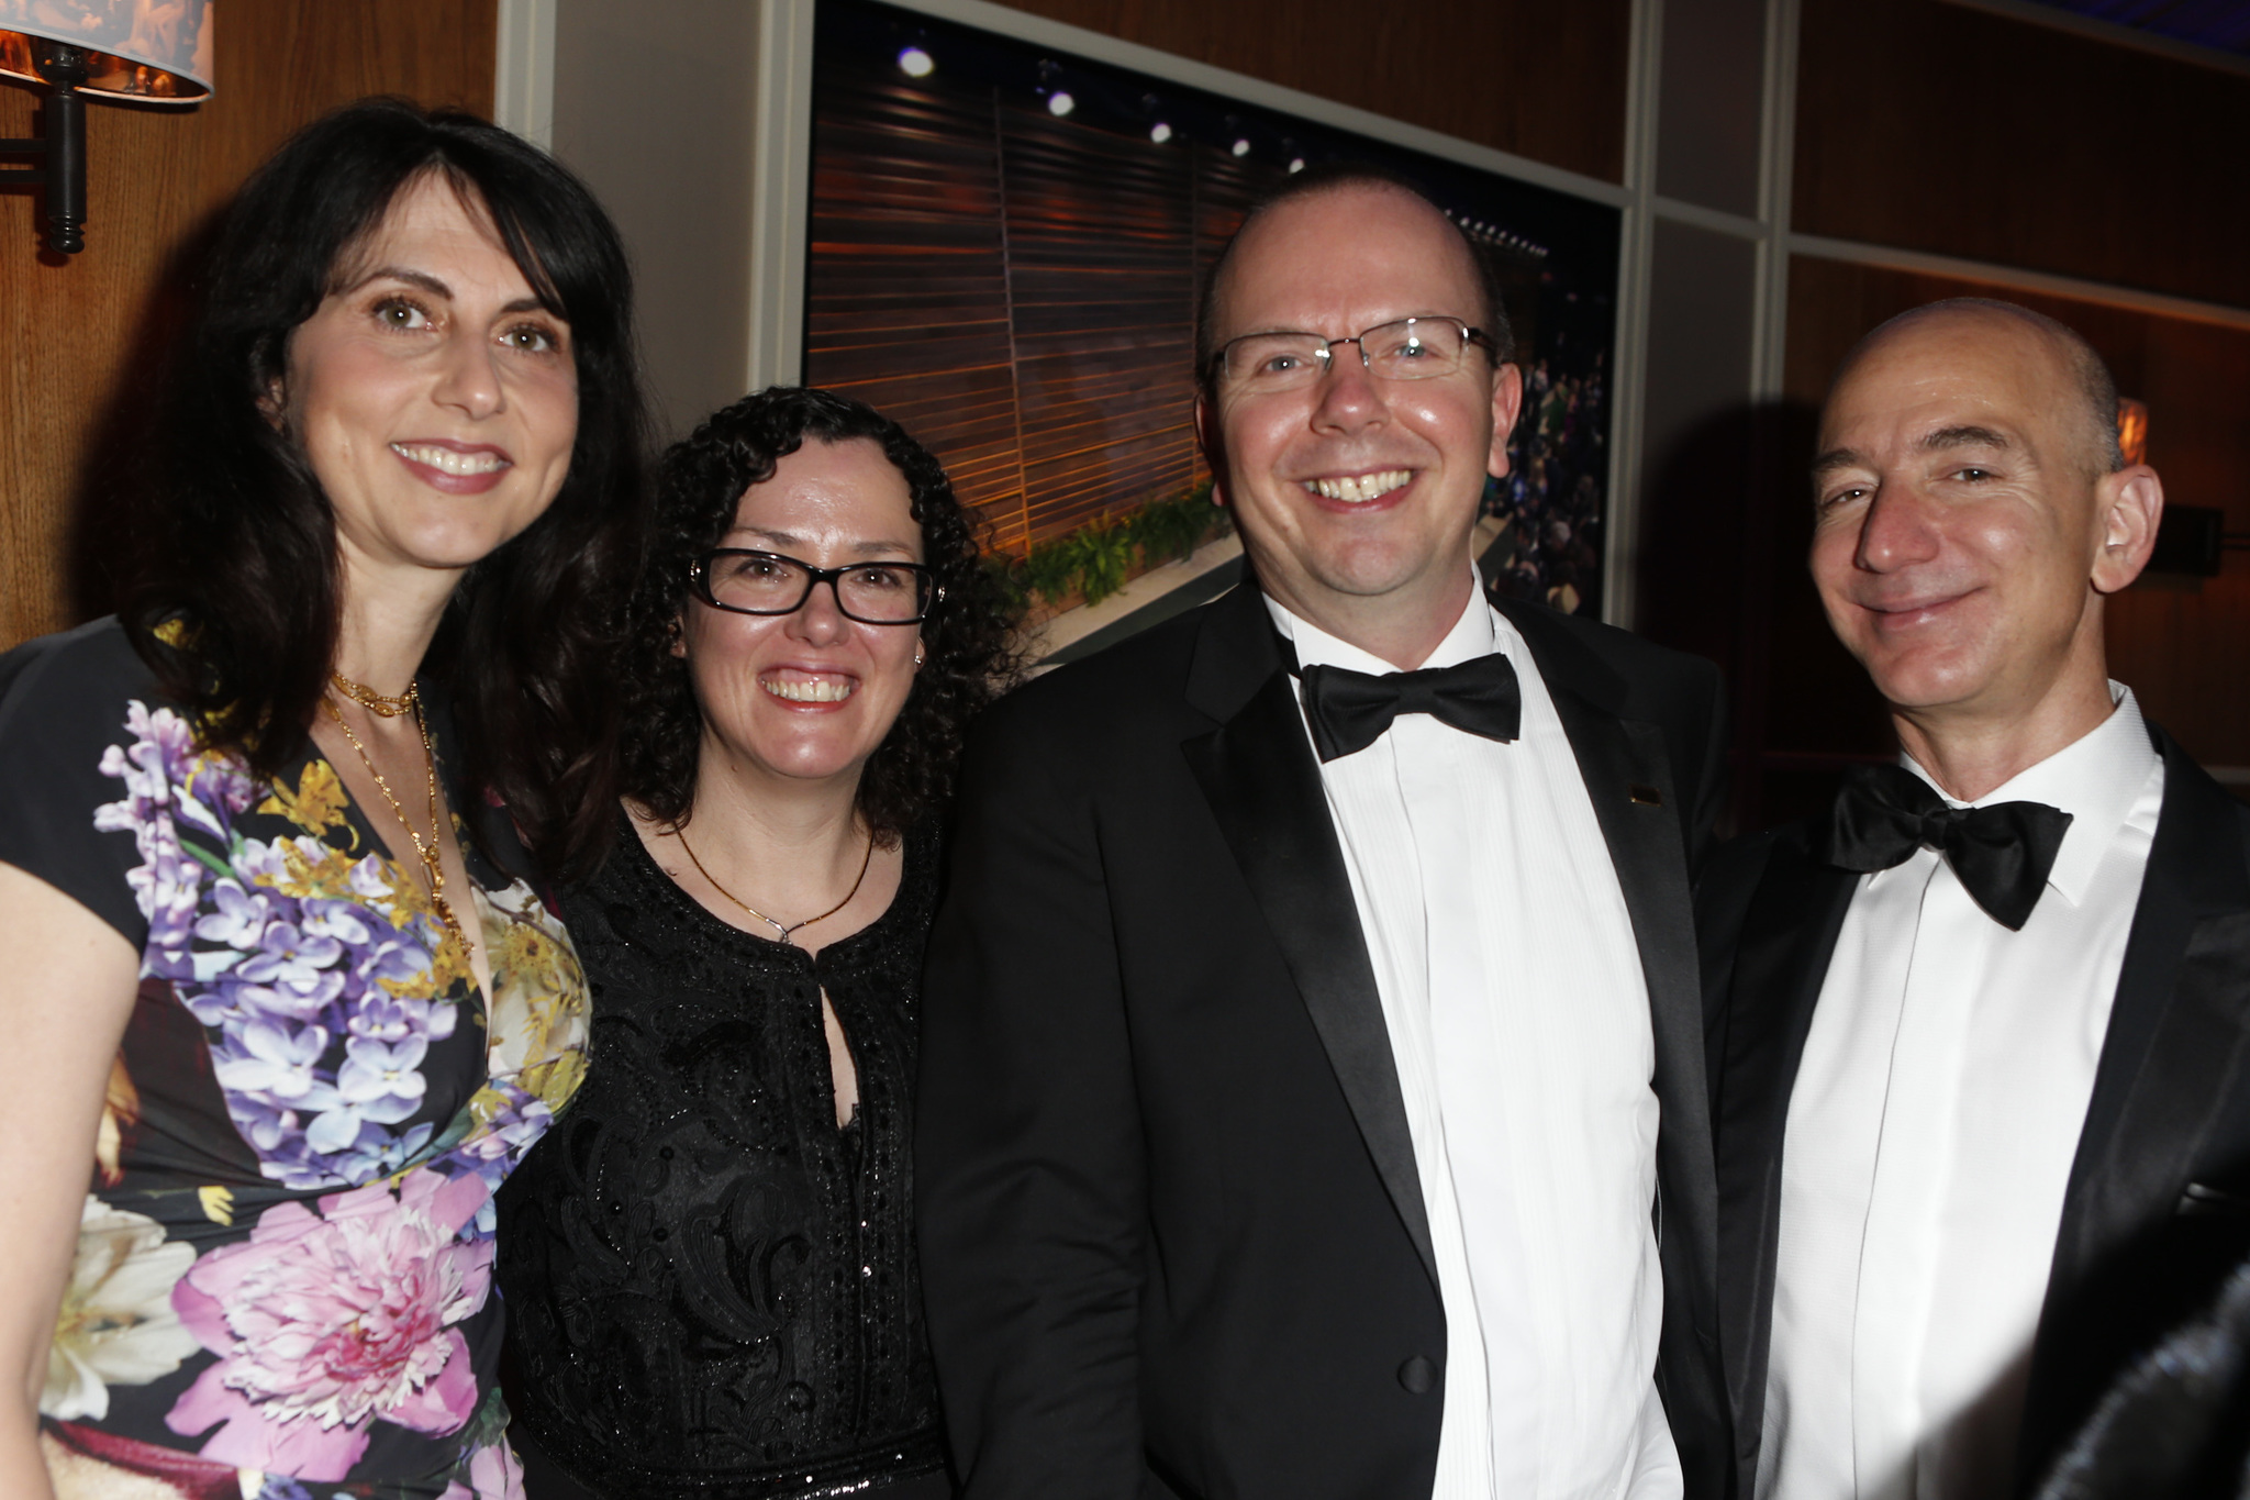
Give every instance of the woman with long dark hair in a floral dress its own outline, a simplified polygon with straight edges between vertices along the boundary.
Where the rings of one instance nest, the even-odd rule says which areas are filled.
[[[518,1493],[490,1196],[583,1075],[538,870],[608,837],[628,308],[466,115],[234,205],[128,607],[0,657],[0,1493]]]

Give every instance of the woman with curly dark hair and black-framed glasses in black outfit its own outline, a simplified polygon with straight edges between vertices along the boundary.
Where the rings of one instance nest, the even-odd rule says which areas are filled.
[[[783,387],[666,454],[628,618],[594,1066],[500,1210],[529,1496],[947,1496],[907,1127],[1010,621],[936,459]]]

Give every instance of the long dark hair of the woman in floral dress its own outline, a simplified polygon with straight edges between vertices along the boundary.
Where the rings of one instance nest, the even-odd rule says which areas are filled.
[[[250,178],[194,283],[122,614],[202,744],[261,776],[304,753],[335,659],[342,564],[328,497],[266,407],[290,333],[430,175],[490,218],[540,306],[569,324],[578,436],[554,504],[461,578],[425,670],[448,686],[470,792],[500,798],[551,873],[583,870],[616,789],[601,580],[632,569],[646,463],[632,277],[585,184],[500,126],[369,99],[306,126]]]

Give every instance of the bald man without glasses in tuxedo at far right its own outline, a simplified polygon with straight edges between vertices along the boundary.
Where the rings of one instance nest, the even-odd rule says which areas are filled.
[[[2061,324],[1942,301],[1820,418],[1811,573],[1894,765],[1699,886],[1755,1500],[2027,1489],[2250,1248],[2250,810],[2110,681],[2162,486]]]

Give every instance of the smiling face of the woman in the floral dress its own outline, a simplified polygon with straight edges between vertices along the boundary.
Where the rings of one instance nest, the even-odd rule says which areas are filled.
[[[569,324],[439,175],[400,189],[288,340],[274,416],[356,587],[457,576],[536,522],[578,436]]]

